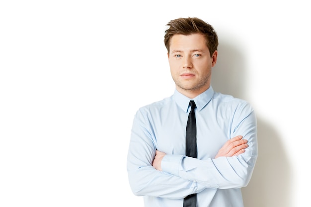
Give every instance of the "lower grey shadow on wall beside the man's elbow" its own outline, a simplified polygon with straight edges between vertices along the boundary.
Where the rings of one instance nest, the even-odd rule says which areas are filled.
[[[253,176],[242,189],[245,207],[292,207],[292,172],[276,131],[258,119],[259,155]]]

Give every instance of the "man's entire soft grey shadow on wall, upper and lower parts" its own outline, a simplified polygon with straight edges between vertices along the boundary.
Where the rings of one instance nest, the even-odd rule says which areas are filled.
[[[247,77],[245,58],[228,42],[219,45],[218,55],[212,71],[213,89],[245,99],[247,86],[240,81]],[[242,188],[244,207],[291,207],[292,172],[281,137],[260,114],[256,115],[259,152],[249,185]]]

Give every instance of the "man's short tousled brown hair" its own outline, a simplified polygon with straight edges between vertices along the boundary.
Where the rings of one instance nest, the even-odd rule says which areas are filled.
[[[175,34],[190,35],[201,33],[205,36],[206,46],[209,48],[211,57],[218,47],[218,36],[213,26],[197,17],[178,18],[169,21],[165,30],[164,45],[169,53],[169,40]]]

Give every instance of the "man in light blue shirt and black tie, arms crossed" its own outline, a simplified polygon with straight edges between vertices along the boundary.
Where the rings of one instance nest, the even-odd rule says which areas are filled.
[[[254,110],[213,90],[218,37],[210,24],[189,17],[167,26],[164,44],[176,89],[134,117],[127,160],[131,189],[144,196],[146,207],[243,207],[240,188],[250,181],[258,154]],[[186,155],[191,108],[195,156]]]

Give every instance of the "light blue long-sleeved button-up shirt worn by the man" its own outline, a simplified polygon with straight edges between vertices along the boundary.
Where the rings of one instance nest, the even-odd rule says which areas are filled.
[[[129,183],[146,207],[183,207],[183,198],[197,194],[197,207],[243,207],[241,187],[251,178],[258,154],[257,122],[243,100],[207,91],[193,99],[197,123],[198,158],[185,156],[190,99],[175,90],[162,101],[141,107],[133,121],[127,158]],[[248,140],[245,152],[214,159],[237,135]],[[153,160],[165,152],[162,171]]]

